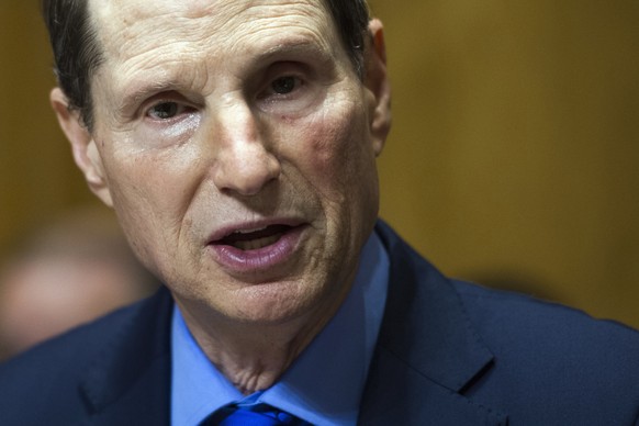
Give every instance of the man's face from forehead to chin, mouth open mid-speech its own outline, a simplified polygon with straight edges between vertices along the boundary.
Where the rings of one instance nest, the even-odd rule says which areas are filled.
[[[186,310],[280,323],[336,309],[377,217],[388,126],[323,2],[90,10],[105,61],[75,149],[143,262]]]

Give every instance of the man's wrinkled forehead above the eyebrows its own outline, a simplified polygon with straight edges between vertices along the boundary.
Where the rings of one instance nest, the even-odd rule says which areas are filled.
[[[116,86],[186,64],[206,75],[284,44],[348,63],[323,0],[89,0],[89,13],[103,75]]]

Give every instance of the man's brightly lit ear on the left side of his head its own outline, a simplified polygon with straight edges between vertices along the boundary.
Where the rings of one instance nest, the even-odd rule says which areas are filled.
[[[104,204],[113,206],[109,183],[102,167],[102,158],[96,146],[96,141],[82,123],[80,114],[69,110],[69,102],[60,88],[52,90],[51,104],[63,132],[71,143],[74,159],[85,173],[89,188]]]

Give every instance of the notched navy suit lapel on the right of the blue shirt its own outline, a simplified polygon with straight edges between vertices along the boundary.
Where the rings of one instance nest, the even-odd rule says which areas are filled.
[[[360,424],[498,425],[506,416],[463,396],[493,355],[451,283],[378,224],[391,258],[384,318]]]

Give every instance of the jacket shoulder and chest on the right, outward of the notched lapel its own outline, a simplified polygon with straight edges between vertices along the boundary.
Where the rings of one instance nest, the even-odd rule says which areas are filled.
[[[607,424],[606,413],[628,407],[639,415],[639,332],[523,294],[452,285],[494,355],[492,368],[468,388],[469,396],[502,406],[513,422],[530,406],[546,407],[539,412],[542,424],[569,411],[581,411],[582,424]]]

